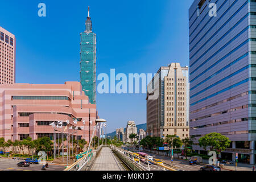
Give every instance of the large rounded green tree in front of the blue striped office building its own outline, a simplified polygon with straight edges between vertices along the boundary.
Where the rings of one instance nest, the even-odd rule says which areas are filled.
[[[221,135],[220,133],[209,133],[199,139],[199,146],[207,150],[210,147],[210,151],[216,151],[219,154],[221,151],[225,151],[226,147],[229,147],[230,140],[228,137]]]

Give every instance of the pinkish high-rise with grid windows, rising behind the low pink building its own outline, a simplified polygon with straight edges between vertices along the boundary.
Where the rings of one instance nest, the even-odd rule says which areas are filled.
[[[16,39],[0,27],[0,84],[15,83]]]

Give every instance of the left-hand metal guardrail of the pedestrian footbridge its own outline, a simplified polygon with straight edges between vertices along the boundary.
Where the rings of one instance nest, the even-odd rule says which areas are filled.
[[[96,148],[96,155],[97,152],[100,151],[102,146],[99,146]],[[86,168],[86,164],[92,161],[94,158],[93,152],[90,150],[88,154],[80,154],[80,156],[83,156],[81,159],[77,160],[77,162],[73,163],[71,166],[64,169],[64,171],[83,171],[84,168]],[[95,155],[95,156],[96,156]]]

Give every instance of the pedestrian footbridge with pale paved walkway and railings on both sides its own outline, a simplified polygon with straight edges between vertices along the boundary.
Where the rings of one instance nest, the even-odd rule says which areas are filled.
[[[112,145],[82,155],[64,171],[176,171]]]

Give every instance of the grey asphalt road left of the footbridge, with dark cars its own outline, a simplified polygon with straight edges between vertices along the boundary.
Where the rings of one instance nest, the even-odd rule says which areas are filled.
[[[0,171],[42,171],[42,164],[30,164],[29,167],[18,167],[17,164],[24,160],[0,159]],[[49,164],[47,171],[63,171],[65,166]]]

